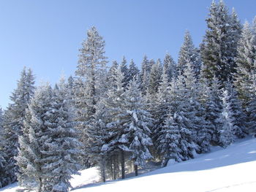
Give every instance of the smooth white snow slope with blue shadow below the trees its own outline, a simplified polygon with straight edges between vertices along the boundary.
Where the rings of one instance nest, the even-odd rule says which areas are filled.
[[[74,192],[175,191],[251,192],[256,191],[256,139],[241,139],[226,149],[213,147],[211,153],[195,159],[130,177],[126,180],[99,181],[97,169],[75,176]],[[17,184],[0,189],[15,192]]]

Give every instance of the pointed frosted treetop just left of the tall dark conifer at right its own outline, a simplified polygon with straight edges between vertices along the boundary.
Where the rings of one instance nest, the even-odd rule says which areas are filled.
[[[178,53],[177,70],[179,74],[184,73],[184,69],[186,69],[188,61],[191,63],[196,76],[198,76],[201,68],[200,56],[197,48],[192,42],[192,37],[190,36],[189,31],[186,31],[184,43]]]

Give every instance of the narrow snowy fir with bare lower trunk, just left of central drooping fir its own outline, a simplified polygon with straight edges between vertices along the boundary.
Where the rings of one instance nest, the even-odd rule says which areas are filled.
[[[115,82],[116,85],[107,93],[107,97],[104,100],[106,110],[111,119],[108,123],[110,128],[110,139],[102,146],[102,151],[110,155],[119,155],[121,161],[121,174],[124,179],[125,175],[125,153],[129,151],[127,147],[128,140],[124,139],[127,134],[124,124],[127,123],[127,117],[125,117],[124,104],[126,101],[124,94],[124,74],[121,72],[121,67],[116,69]]]

